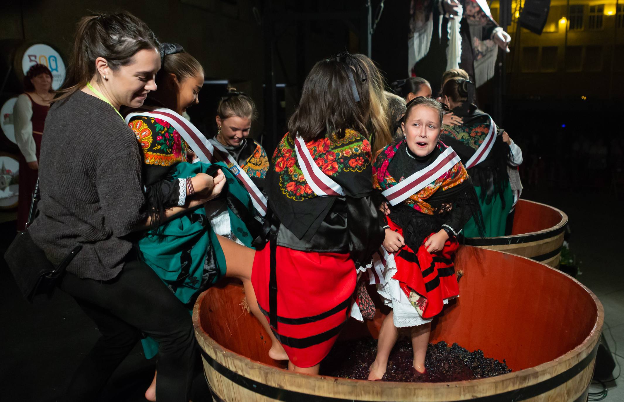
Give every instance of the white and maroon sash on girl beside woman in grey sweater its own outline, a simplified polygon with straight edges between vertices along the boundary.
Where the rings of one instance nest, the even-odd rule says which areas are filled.
[[[251,196],[253,206],[262,216],[266,214],[267,207],[265,196],[260,189],[253,184],[253,181],[251,181],[245,171],[238,166],[238,163],[236,163],[234,158],[232,158],[230,153],[228,153],[223,146],[220,144],[218,146],[216,144],[213,145],[197,127],[171,109],[163,107],[142,107],[134,109],[133,112],[128,113],[125,117],[125,123],[130,123],[130,120],[136,116],[159,118],[169,123],[182,138],[187,141],[188,146],[190,146],[193,152],[195,152],[195,155],[197,155],[199,160],[203,163],[225,162],[232,174],[245,186],[245,189]]]

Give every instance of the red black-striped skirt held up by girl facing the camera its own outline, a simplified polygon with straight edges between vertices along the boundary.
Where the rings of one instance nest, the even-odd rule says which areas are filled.
[[[388,219],[388,224],[393,231],[403,235],[401,227],[390,219]],[[412,302],[412,305],[415,304],[414,307],[422,318],[434,317],[442,311],[444,299],[459,295],[455,266],[452,261],[459,247],[457,239],[449,237],[442,251],[434,253],[428,252],[424,246],[427,239],[422,242],[418,251],[406,245],[394,253],[397,272],[392,276],[400,282],[401,289],[408,298],[412,290],[419,296],[416,303]]]

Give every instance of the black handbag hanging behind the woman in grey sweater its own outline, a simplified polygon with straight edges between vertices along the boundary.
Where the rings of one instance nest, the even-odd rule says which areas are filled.
[[[32,241],[31,234],[28,231],[28,226],[30,226],[36,214],[38,201],[39,180],[37,180],[35,189],[32,192],[31,211],[26,223],[26,230],[17,234],[6,253],[4,253],[4,259],[17,282],[17,287],[31,303],[38,294],[47,294],[48,297],[52,295],[52,291],[65,272],[66,267],[82,249],[82,245],[77,244],[57,267],[47,259],[46,253]]]

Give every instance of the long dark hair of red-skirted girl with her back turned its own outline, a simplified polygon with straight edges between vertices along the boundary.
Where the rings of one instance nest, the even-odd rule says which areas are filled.
[[[363,79],[361,69],[335,57],[314,64],[303,83],[299,106],[288,120],[291,138],[299,134],[311,141],[327,133],[344,138],[347,128],[368,137],[370,95]]]

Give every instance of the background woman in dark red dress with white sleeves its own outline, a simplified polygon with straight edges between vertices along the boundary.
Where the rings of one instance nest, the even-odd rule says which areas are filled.
[[[32,191],[39,177],[41,135],[46,122],[52,91],[52,73],[43,64],[34,64],[24,77],[24,93],[13,107],[15,139],[19,146],[19,194],[17,231],[23,231],[31,208]]]

